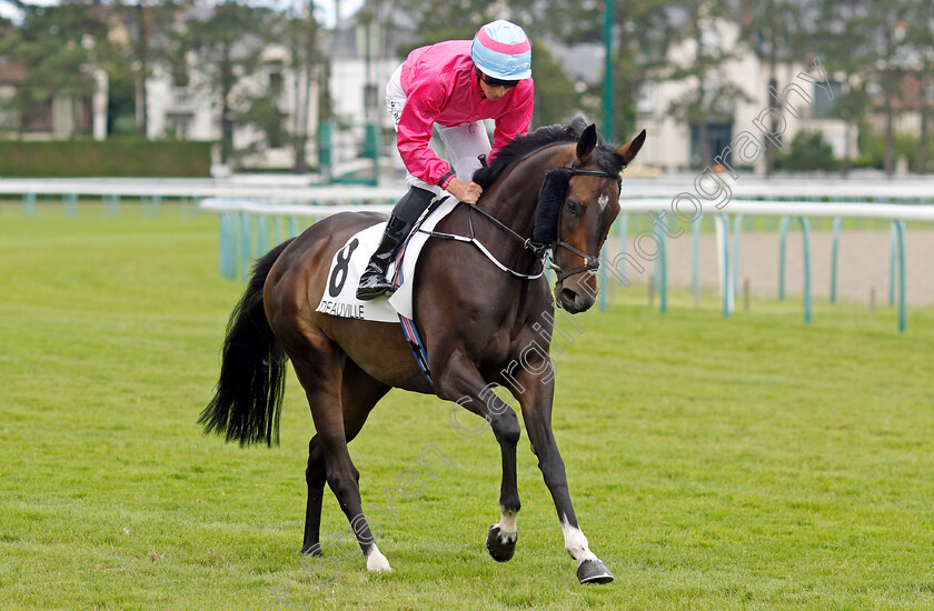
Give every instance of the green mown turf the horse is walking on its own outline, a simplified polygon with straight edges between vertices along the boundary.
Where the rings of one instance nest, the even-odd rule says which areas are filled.
[[[241,291],[218,277],[217,226],[0,209],[0,608],[271,609],[272,588],[308,609],[934,608],[934,310],[900,334],[892,310],[848,304],[806,327],[797,301],[725,320],[716,296],[675,294],[663,317],[645,289],[578,317],[557,358],[556,438],[616,581],[577,584],[525,437],[518,549],[494,562],[493,435],[394,391],[351,444],[365,503],[426,444],[451,464],[377,519],[393,573],[342,560],[317,584],[295,379],[278,449],[195,422]],[[349,539],[330,493],[322,531]]]

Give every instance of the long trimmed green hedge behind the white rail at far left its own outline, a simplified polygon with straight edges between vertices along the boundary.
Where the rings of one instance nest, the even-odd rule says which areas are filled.
[[[212,142],[0,140],[0,177],[208,177]]]

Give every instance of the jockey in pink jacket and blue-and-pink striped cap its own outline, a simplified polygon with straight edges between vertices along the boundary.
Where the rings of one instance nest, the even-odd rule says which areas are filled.
[[[465,203],[477,203],[483,189],[473,176],[480,168],[479,156],[490,152],[484,119],[495,120],[493,143],[499,150],[528,131],[534,91],[528,37],[501,19],[480,28],[473,41],[416,49],[396,69],[386,86],[386,106],[396,124],[409,190],[393,209],[360,277],[357,299],[393,294],[386,270],[396,248],[443,190]],[[450,163],[431,150],[433,129]]]

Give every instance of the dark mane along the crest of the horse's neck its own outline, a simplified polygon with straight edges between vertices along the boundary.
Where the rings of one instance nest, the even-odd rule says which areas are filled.
[[[585,129],[587,129],[587,122],[582,117],[577,117],[567,126],[547,126],[520,136],[499,149],[493,163],[474,172],[474,182],[487,189],[496,182],[506,168],[550,144],[577,142]],[[617,153],[615,148],[605,144],[599,136],[593,154],[596,156],[597,164],[606,172],[618,174],[626,167],[623,156]]]

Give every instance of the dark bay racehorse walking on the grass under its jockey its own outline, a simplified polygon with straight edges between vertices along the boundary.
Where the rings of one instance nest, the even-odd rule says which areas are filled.
[[[578,119],[517,139],[475,174],[484,188],[480,200],[475,207],[458,204],[436,231],[474,234],[488,252],[474,243],[430,239],[415,276],[415,320],[434,385],[417,367],[399,325],[315,311],[335,252],[385,217],[335,214],[256,262],[228,324],[215,398],[199,422],[206,431],[223,433],[241,445],[278,442],[285,367],[291,360],[317,431],[308,447],[302,553],[321,553],[327,483],[350,521],[367,569],[390,570],[364,514],[359,473],[347,443],[395,387],[437,394],[489,422],[501,451],[503,480],[500,520],[490,527],[487,550],[498,561],[509,560],[517,539],[520,429],[516,412],[490,392],[494,384],[501,384],[521,407],[565,549],[578,562],[578,579],[582,583],[613,580],[589,550],[574,513],[552,432],[554,378],[540,375],[550,364],[548,342],[535,340],[550,338],[555,304],[569,313],[594,304],[593,272],[619,212],[619,176],[644,141],[645,131],[618,149],[609,147],[599,141],[595,126],[585,127]],[[554,300],[547,280],[536,273],[546,249],[559,268]],[[544,350],[527,350],[533,343]]]

